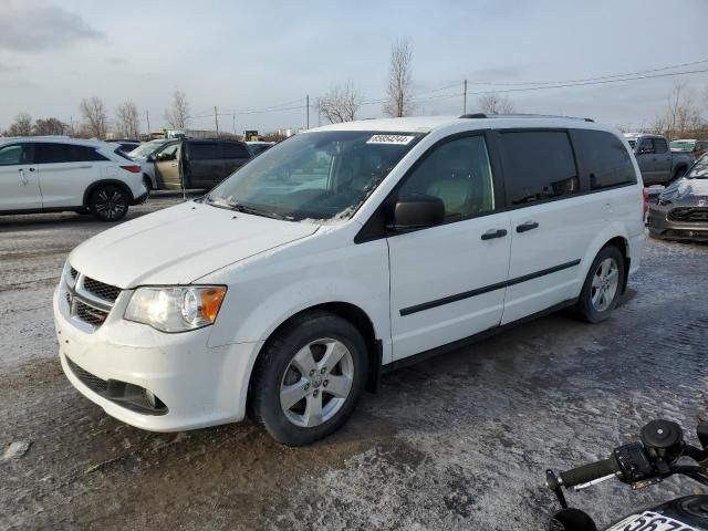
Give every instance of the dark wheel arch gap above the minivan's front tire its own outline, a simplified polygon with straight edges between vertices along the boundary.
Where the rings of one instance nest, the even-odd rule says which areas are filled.
[[[364,339],[364,343],[366,344],[366,356],[368,358],[368,377],[366,382],[367,391],[375,393],[378,389],[378,382],[381,377],[381,366],[382,366],[382,341],[376,337],[376,330],[374,329],[374,323],[372,322],[368,314],[362,310],[356,304],[350,302],[342,301],[333,301],[333,302],[323,302],[320,304],[314,304],[302,309],[288,319],[283,320],[278,326],[273,329],[273,331],[269,334],[268,339],[263,342],[261,347],[258,351],[256,360],[251,366],[251,372],[248,376],[248,393],[246,398],[246,410],[251,414],[251,383],[253,381],[253,375],[258,368],[259,360],[261,358],[263,352],[268,347],[273,337],[283,329],[290,325],[294,320],[302,316],[305,313],[312,311],[324,311],[336,315],[339,317],[348,321],[361,334]]]

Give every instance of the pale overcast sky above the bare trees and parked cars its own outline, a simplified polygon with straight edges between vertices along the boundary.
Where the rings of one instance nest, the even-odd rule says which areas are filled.
[[[236,114],[238,132],[300,127],[305,94],[314,102],[352,81],[366,100],[385,96],[391,44],[400,37],[413,46],[416,92],[427,98],[417,113],[459,114],[464,79],[471,93],[513,88],[479,82],[581,80],[708,60],[707,27],[708,0],[0,0],[0,128],[19,112],[76,123],[81,98],[96,95],[111,118],[117,104],[134,101],[142,128],[149,111],[156,129],[176,90],[195,116],[214,105],[225,114],[284,108]],[[708,70],[708,61],[680,70]],[[708,73],[680,79],[708,117]],[[662,112],[674,82],[506,95],[519,112],[641,128]],[[376,117],[382,108],[358,114]],[[230,115],[219,119],[232,129]],[[214,117],[191,125],[212,128]]]

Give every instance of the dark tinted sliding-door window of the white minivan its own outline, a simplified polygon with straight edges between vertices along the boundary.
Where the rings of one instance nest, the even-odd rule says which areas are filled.
[[[577,194],[580,179],[568,133],[502,133],[504,177],[512,205],[528,205]]]

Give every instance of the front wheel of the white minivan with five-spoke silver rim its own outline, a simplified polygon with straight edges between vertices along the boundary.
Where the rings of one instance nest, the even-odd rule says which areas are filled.
[[[332,356],[336,363],[327,367]],[[269,340],[257,362],[253,416],[279,442],[310,445],[347,420],[367,374],[366,344],[352,323],[329,312],[304,313]]]

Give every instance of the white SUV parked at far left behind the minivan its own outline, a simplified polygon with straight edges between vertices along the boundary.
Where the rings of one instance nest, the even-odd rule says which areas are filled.
[[[115,149],[69,137],[0,140],[0,214],[73,210],[122,219],[147,190],[140,166]]]

